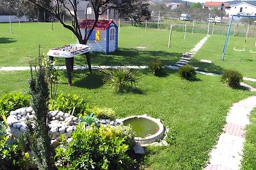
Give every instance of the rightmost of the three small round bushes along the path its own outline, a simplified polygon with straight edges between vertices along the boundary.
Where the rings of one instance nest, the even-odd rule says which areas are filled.
[[[226,69],[221,76],[221,81],[234,88],[240,85],[240,82],[243,81],[243,76],[239,71]]]

